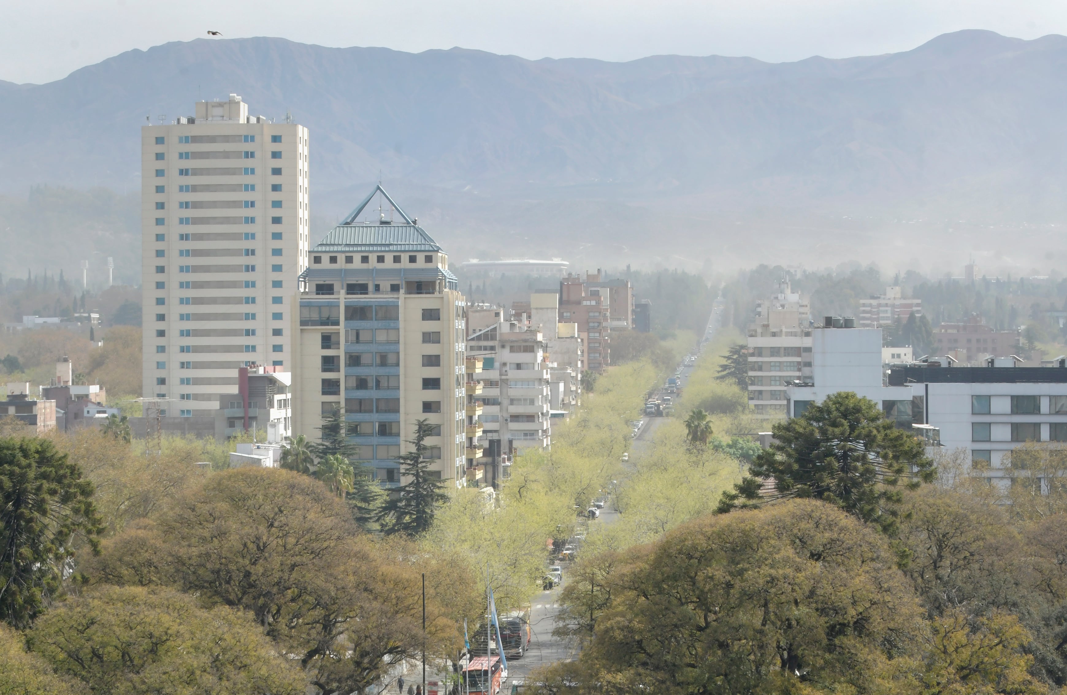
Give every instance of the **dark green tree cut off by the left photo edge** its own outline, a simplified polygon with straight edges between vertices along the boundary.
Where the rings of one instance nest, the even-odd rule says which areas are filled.
[[[0,439],[0,619],[26,627],[62,589],[76,538],[96,550],[93,484],[46,439]]]

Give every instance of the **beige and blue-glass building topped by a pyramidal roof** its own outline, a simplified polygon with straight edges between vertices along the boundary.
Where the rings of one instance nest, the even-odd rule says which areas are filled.
[[[356,459],[388,488],[401,484],[396,458],[426,418],[431,470],[464,485],[466,305],[448,255],[417,220],[377,186],[309,250],[291,305],[293,433],[319,439],[322,416],[341,409]]]

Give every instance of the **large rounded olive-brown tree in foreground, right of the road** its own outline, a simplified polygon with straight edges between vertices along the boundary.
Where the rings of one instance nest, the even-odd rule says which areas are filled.
[[[563,589],[587,635],[557,669],[571,692],[908,692],[918,602],[887,539],[830,505],[707,516],[594,563]]]

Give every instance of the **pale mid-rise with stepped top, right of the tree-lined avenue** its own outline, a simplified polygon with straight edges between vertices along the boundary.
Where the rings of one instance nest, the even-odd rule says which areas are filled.
[[[811,377],[811,310],[787,280],[757,302],[748,327],[748,402],[757,416],[785,416],[785,386]]]

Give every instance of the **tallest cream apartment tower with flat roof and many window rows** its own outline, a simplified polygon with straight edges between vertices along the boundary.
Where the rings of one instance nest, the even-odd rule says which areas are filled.
[[[144,396],[177,401],[168,415],[218,409],[238,367],[291,369],[307,153],[307,128],[236,94],[141,128]]]

